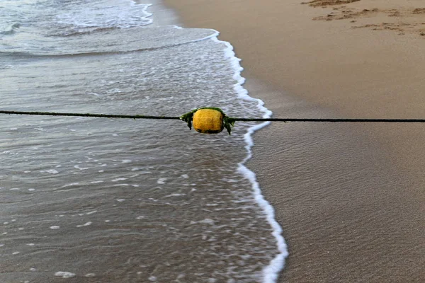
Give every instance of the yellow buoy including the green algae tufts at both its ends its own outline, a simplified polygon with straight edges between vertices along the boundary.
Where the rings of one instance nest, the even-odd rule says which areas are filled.
[[[218,134],[224,128],[230,135],[234,119],[227,117],[220,108],[197,108],[180,117],[181,120],[188,123],[189,129],[193,128],[196,132],[203,134]]]

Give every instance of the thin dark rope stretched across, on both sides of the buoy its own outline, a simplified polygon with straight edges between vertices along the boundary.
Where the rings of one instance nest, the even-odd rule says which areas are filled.
[[[0,110],[0,114],[9,115],[43,115],[43,116],[74,116],[74,117],[102,117],[123,119],[161,119],[181,120],[176,116],[150,116],[150,115],[113,115],[92,113],[64,113],[64,112],[31,112],[31,111],[6,111]],[[237,118],[231,117],[239,122],[386,122],[386,123],[425,123],[425,119],[329,119],[329,118]]]

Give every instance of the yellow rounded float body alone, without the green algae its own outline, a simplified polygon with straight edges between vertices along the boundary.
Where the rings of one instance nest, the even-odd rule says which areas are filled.
[[[217,134],[221,132],[225,124],[223,114],[213,109],[199,109],[193,115],[193,128],[196,132],[204,134]]]

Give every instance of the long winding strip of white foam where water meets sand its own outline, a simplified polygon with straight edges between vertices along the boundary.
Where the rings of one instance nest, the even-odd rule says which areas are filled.
[[[263,107],[263,101],[256,98],[251,98],[251,96],[248,95],[248,91],[246,91],[246,89],[242,87],[242,84],[244,84],[245,79],[241,76],[241,72],[243,70],[243,68],[239,64],[241,59],[235,56],[232,45],[230,45],[229,42],[218,40],[217,37],[213,37],[212,40],[214,40],[215,42],[222,42],[227,47],[225,49],[225,58],[231,62],[232,67],[234,69],[233,78],[237,81],[237,83],[234,84],[234,91],[237,92],[238,97],[244,100],[256,101],[257,107],[259,108],[259,110],[261,110],[261,112],[264,113],[263,118],[271,117],[272,112],[267,108]],[[242,173],[242,175],[244,175],[245,178],[247,178],[251,182],[255,200],[259,204],[259,207],[263,209],[263,212],[266,213],[266,219],[273,229],[272,234],[276,238],[277,242],[278,255],[276,255],[276,257],[273,258],[273,260],[271,260],[271,262],[266,267],[263,267],[263,283],[276,282],[280,271],[285,265],[285,258],[288,256],[288,248],[286,246],[285,239],[282,236],[282,228],[275,219],[274,209],[261,194],[261,189],[259,187],[259,183],[256,181],[255,173],[246,168],[246,166],[244,166],[244,163],[246,163],[246,161],[248,161],[252,156],[251,147],[254,146],[254,141],[252,140],[251,135],[256,130],[266,127],[266,125],[269,124],[270,122],[263,122],[260,125],[250,127],[248,129],[248,132],[244,134],[244,140],[246,142],[245,149],[248,154],[242,162],[238,163],[238,171]]]

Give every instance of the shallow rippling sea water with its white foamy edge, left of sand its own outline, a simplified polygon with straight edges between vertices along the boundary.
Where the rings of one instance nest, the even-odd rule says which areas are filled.
[[[271,115],[217,31],[154,18],[148,2],[1,1],[0,109]],[[1,115],[0,282],[275,282],[285,243],[244,166],[263,125]]]

